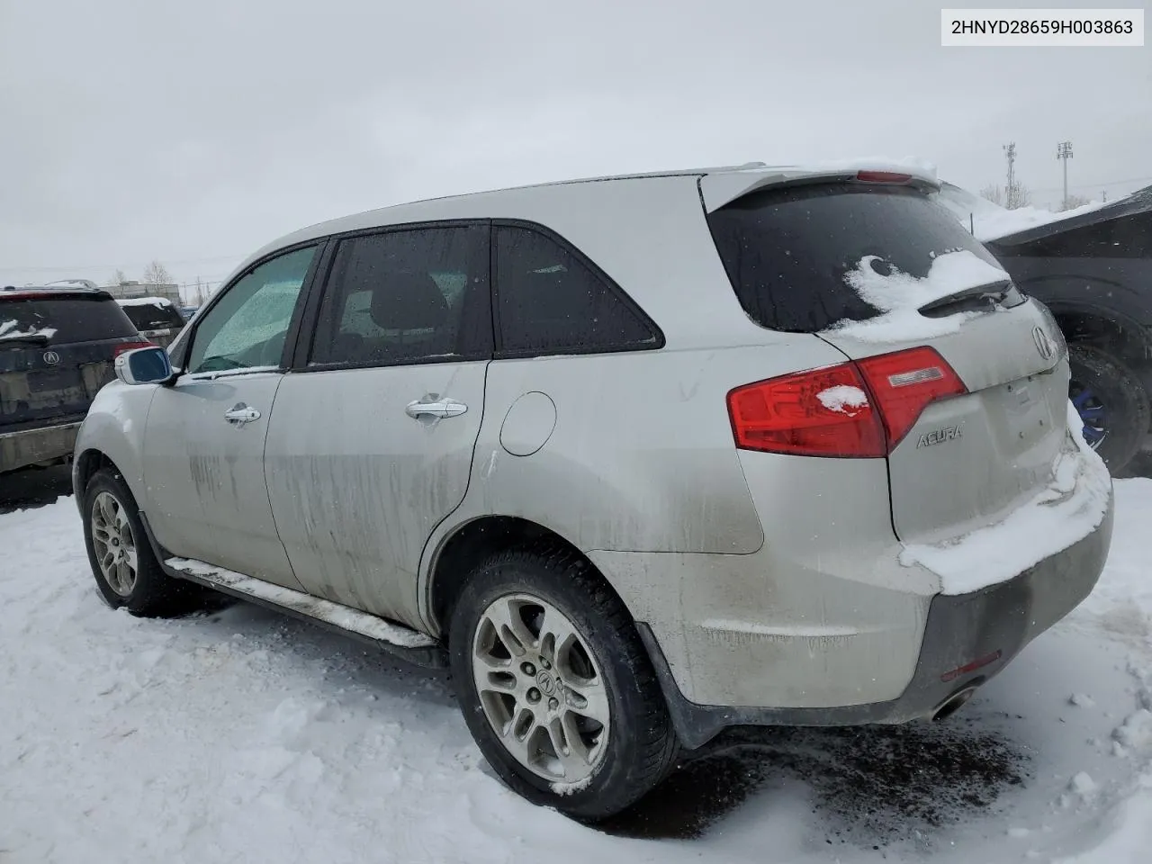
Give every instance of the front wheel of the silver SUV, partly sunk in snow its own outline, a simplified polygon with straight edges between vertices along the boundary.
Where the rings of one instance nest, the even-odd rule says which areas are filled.
[[[101,468],[92,475],[83,514],[88,560],[108,606],[142,616],[179,615],[196,607],[196,586],[160,568],[136,499],[118,471]]]

